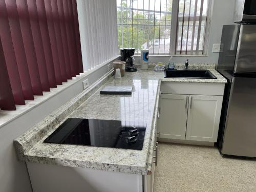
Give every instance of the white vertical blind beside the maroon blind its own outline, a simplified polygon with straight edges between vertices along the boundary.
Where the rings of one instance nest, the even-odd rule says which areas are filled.
[[[83,69],[119,55],[116,0],[77,0]]]

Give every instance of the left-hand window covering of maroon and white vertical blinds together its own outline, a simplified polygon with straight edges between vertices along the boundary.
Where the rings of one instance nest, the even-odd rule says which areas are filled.
[[[0,1],[0,110],[117,58],[116,19],[116,0]]]

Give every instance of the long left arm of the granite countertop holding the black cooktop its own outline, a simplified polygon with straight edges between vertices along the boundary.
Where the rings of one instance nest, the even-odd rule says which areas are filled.
[[[142,151],[43,143],[44,139],[54,131],[51,129],[44,138],[25,152],[26,160],[62,166],[147,174],[147,171],[151,170],[153,160],[154,137],[152,135],[156,132],[154,114],[158,104],[156,101],[159,97],[161,76],[162,74],[155,74],[154,71],[142,71],[127,74],[120,80],[112,78],[104,86],[131,84],[133,85],[132,95],[100,95],[99,89],[68,116],[145,121],[147,130]]]

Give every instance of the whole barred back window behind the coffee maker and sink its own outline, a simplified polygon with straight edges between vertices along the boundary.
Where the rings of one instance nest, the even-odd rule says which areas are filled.
[[[203,55],[210,0],[117,0],[119,48]]]

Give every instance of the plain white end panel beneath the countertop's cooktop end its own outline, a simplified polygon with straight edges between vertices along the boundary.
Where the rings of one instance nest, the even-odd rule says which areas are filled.
[[[27,166],[34,192],[143,192],[142,175],[30,162]]]

